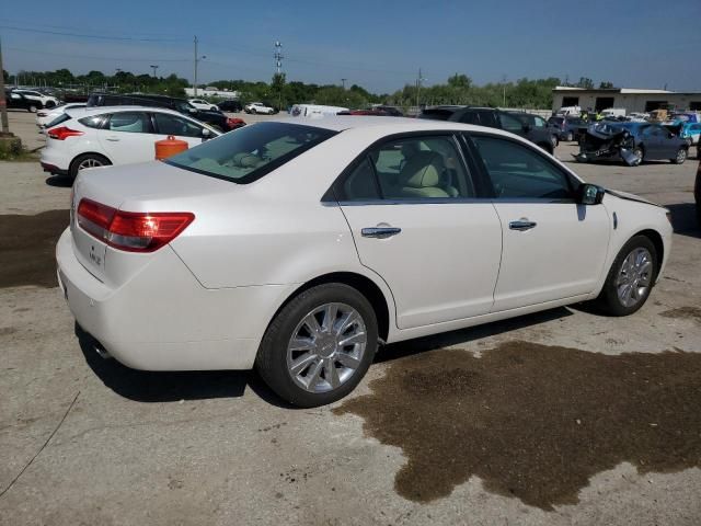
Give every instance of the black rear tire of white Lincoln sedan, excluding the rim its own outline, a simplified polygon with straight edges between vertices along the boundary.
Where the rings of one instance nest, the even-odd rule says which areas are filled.
[[[297,386],[290,377],[287,345],[301,319],[314,308],[330,302],[349,305],[360,315],[367,330],[367,345],[360,366],[352,378],[333,391],[312,393]],[[375,311],[363,294],[341,283],[319,285],[299,294],[275,316],[261,342],[255,367],[268,387],[287,402],[301,408],[325,405],[342,399],[360,382],[375,358],[377,340]]]

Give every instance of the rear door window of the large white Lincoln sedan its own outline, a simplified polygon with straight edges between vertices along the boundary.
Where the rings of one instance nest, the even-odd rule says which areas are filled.
[[[407,137],[369,150],[345,179],[340,201],[474,197],[451,136]]]

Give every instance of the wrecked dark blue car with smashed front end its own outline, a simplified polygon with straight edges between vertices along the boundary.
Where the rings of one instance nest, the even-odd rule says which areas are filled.
[[[689,142],[659,124],[605,122],[590,126],[579,142],[579,162],[623,160],[629,167],[643,161],[670,160],[681,164]]]

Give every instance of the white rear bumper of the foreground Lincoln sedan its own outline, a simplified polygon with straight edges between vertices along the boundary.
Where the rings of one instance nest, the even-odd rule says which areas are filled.
[[[206,289],[170,247],[111,287],[56,247],[58,279],[76,321],[117,361],[143,370],[250,369],[287,286]]]

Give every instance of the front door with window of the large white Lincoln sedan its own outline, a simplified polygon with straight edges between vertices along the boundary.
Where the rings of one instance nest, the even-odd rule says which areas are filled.
[[[591,293],[608,250],[606,208],[576,204],[576,180],[533,147],[481,134],[472,144],[503,231],[493,311]]]

